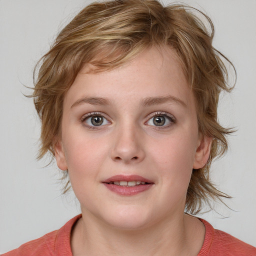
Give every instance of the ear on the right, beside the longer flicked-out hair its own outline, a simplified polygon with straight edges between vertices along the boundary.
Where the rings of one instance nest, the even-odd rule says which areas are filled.
[[[212,137],[199,135],[198,144],[195,151],[193,169],[203,167],[210,155]]]

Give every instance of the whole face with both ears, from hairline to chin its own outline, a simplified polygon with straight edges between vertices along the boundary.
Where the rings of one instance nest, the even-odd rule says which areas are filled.
[[[152,48],[114,70],[90,68],[64,97],[55,145],[83,216],[132,229],[183,215],[192,168],[206,163],[210,139],[198,133],[175,53]]]

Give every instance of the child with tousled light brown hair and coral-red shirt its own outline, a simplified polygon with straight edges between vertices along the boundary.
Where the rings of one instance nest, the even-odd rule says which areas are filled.
[[[82,214],[4,255],[256,254],[184,214],[228,197],[207,178],[230,133],[217,122],[231,88],[211,41],[184,6],[156,0],[76,15],[43,56],[33,96],[39,156],[49,150],[68,173]]]

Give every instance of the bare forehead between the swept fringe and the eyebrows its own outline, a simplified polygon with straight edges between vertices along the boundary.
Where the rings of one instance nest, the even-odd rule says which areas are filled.
[[[122,66],[94,72],[85,64],[66,93],[64,103],[80,97],[105,97],[110,101],[141,100],[141,97],[173,96],[191,102],[191,89],[179,59],[171,48],[152,47]]]

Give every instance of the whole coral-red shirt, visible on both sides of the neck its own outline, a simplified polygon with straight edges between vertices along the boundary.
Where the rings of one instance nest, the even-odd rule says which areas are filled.
[[[81,214],[70,219],[59,230],[24,243],[17,249],[2,254],[2,256],[72,256],[71,228],[80,217]],[[256,247],[242,242],[230,234],[214,229],[204,219],[200,220],[205,226],[205,237],[197,256],[256,256]]]

